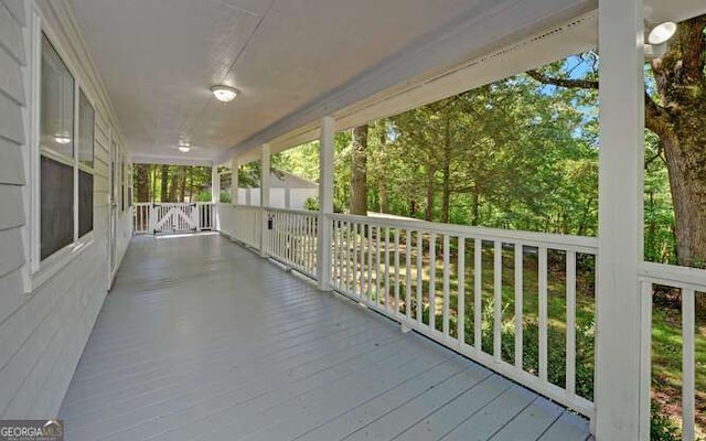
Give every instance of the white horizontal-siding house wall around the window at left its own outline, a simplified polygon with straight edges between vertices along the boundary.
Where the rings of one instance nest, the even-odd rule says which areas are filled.
[[[96,107],[94,238],[53,276],[29,276],[31,180],[29,115],[32,101],[29,0],[0,0],[0,418],[55,417],[86,344],[109,282],[109,137],[105,103],[95,78],[65,39],[53,40]],[[54,29],[54,35],[65,35]],[[78,68],[76,67],[78,66]],[[128,212],[129,213],[129,212]],[[127,219],[127,220],[126,220]],[[118,227],[125,251],[129,215]],[[25,252],[26,251],[26,252]]]

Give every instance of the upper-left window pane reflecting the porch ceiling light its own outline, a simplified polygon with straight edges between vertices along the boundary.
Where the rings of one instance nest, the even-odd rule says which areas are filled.
[[[74,78],[42,34],[41,146],[74,154]]]

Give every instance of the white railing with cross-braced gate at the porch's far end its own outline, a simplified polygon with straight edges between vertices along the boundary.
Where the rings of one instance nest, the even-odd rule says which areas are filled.
[[[135,234],[210,230],[215,227],[214,204],[136,203],[132,205]]]

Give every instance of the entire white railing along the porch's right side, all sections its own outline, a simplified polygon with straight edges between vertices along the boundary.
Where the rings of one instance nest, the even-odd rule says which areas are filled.
[[[218,217],[222,233],[258,250],[265,244],[265,256],[315,279],[317,212],[222,204]],[[414,329],[595,417],[592,392],[577,384],[577,370],[590,365],[592,372],[595,337],[592,329],[582,332],[577,313],[581,311],[586,322],[587,311],[592,314],[595,309],[586,302],[593,301],[596,238],[384,217],[330,214],[327,218],[332,227],[329,265],[335,291],[399,322],[403,329]],[[693,440],[695,295],[706,298],[706,271],[644,263],[640,283],[643,433],[649,433],[650,424],[652,292],[655,286],[671,287],[680,290],[683,302],[683,427],[684,439]],[[531,310],[528,304],[536,308]],[[561,347],[556,347],[556,334],[550,343],[557,330]],[[525,338],[531,333],[532,338]],[[560,366],[556,356],[549,356],[556,351],[563,353]],[[579,363],[577,354],[584,357]],[[557,369],[561,372],[558,381]],[[586,376],[584,370],[582,383]]]

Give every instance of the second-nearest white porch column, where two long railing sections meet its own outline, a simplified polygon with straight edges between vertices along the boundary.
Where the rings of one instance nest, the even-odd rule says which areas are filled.
[[[319,227],[317,236],[317,280],[319,291],[331,290],[331,223],[327,218],[333,213],[333,136],[335,120],[321,119],[319,140]]]

